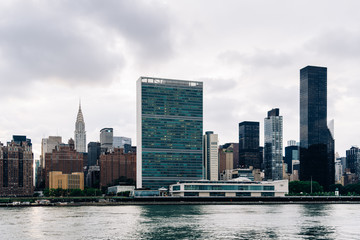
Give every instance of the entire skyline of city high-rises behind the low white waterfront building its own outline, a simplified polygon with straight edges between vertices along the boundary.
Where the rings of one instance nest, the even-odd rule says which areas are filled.
[[[68,144],[59,136],[42,140],[35,168],[36,187],[68,186],[56,182],[78,177],[83,181],[77,182],[91,187],[133,179],[138,189],[169,188],[181,181],[246,178],[317,181],[327,190],[339,181],[339,174],[344,179],[348,172],[348,182],[360,174],[359,148],[347,152],[346,163],[340,158],[335,161],[333,130],[327,124],[324,67],[300,70],[300,142],[289,141],[285,156],[283,116],[278,108],[264,114],[263,146],[256,121],[240,122],[239,141],[219,146],[218,134],[203,134],[202,82],[140,77],[136,94],[137,147],[131,146],[130,138],[114,137],[112,128],[103,128],[100,142],[90,142],[86,149],[85,122],[79,106],[74,140]],[[16,166],[11,165],[14,158]],[[0,195],[9,195],[10,186],[32,187],[32,159],[31,141],[24,136],[14,136],[7,146],[0,146]],[[15,177],[10,169],[16,169]],[[52,176],[57,178],[49,179]],[[13,193],[29,195],[26,191]]]

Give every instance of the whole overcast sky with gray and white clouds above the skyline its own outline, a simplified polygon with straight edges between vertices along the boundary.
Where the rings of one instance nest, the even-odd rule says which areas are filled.
[[[360,145],[360,2],[288,0],[1,1],[0,141],[103,127],[135,143],[139,76],[204,82],[204,131],[238,141],[238,123],[280,108],[299,140],[299,69],[328,68],[336,151]],[[263,138],[261,139],[263,145]]]

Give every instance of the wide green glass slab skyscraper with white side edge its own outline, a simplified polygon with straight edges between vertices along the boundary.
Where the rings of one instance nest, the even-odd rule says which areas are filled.
[[[202,82],[137,81],[137,188],[202,178]]]

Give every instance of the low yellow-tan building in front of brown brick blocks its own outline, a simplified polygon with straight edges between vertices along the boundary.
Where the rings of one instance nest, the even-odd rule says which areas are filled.
[[[63,174],[61,171],[49,172],[49,189],[52,188],[84,190],[84,173]]]

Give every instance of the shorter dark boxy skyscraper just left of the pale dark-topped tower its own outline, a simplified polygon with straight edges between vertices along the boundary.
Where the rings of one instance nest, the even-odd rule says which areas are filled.
[[[259,122],[239,123],[239,167],[261,168]]]

